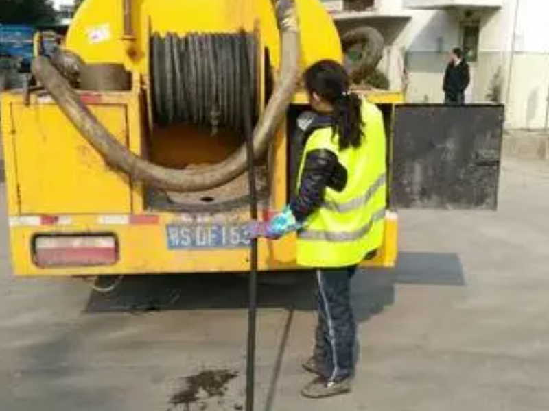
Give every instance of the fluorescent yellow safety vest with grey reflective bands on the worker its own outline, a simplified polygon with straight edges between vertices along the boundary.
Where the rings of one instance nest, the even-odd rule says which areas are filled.
[[[326,188],[325,201],[298,233],[297,262],[311,267],[358,264],[382,245],[387,204],[386,137],[382,112],[363,101],[364,142],[340,151],[331,127],[309,136],[301,160],[298,182],[307,153],[328,149],[347,169],[342,192]],[[299,184],[299,183],[298,183]]]

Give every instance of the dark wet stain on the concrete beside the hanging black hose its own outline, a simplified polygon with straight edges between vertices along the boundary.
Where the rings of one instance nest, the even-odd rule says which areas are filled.
[[[200,403],[200,400],[205,396],[207,398],[224,397],[226,385],[237,375],[237,372],[230,370],[207,370],[185,377],[182,388],[170,398],[170,404],[173,407],[183,406],[184,410],[190,410],[190,405],[197,403],[200,410],[206,410],[207,405]],[[235,410],[242,409],[237,407],[239,406],[235,406]]]

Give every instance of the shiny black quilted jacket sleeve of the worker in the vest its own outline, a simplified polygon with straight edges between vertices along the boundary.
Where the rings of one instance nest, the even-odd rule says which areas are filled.
[[[290,208],[297,221],[305,221],[322,205],[326,187],[333,179],[338,164],[337,155],[327,149],[307,153],[299,190],[290,202]]]

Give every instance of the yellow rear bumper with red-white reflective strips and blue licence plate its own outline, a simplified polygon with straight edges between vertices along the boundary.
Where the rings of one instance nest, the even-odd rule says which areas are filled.
[[[143,215],[12,216],[10,239],[15,275],[65,277],[86,275],[138,275],[160,273],[235,272],[249,269],[246,222],[216,220],[215,216],[164,213]],[[388,212],[384,245],[369,267],[392,267],[397,258],[397,214]],[[69,236],[114,238],[115,262],[105,265],[40,266],[37,239]],[[65,244],[65,242],[62,242]],[[84,253],[89,255],[89,253]],[[78,256],[78,253],[77,253]],[[56,264],[63,259],[54,259]],[[92,263],[96,264],[96,263]],[[296,237],[259,241],[259,269],[305,269],[296,264]]]

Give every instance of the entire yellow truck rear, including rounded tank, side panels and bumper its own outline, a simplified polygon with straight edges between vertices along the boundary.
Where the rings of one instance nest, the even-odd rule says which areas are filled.
[[[121,3],[86,0],[69,30],[67,48],[78,52],[86,63],[124,64],[132,73],[132,89],[79,91],[80,99],[110,134],[135,155],[167,166],[177,166],[178,159],[194,151],[198,158],[202,155],[212,162],[217,157],[223,158],[233,147],[214,142],[209,136],[190,144],[179,142],[172,138],[178,129],[168,131],[172,135],[163,139],[162,131],[151,124],[148,38],[153,31],[172,30],[181,35],[196,31],[255,31],[261,47],[269,49],[270,64],[276,72],[280,39],[271,1],[135,2],[138,5],[132,9],[135,36],[129,43],[123,33]],[[297,0],[296,4],[302,26],[302,68],[323,58],[341,61],[338,33],[323,6],[313,0]],[[128,44],[132,51],[128,51]],[[265,99],[264,87],[261,98]],[[393,106],[403,100],[399,92],[372,91],[366,93],[366,98],[384,107],[387,124]],[[290,110],[306,104],[305,93],[296,92]],[[1,128],[15,275],[64,277],[249,269],[248,241],[242,229],[235,228],[243,227],[250,219],[245,205],[229,212],[181,212],[150,206],[146,187],[106,164],[47,92],[36,90],[26,97],[21,91],[4,92]],[[390,137],[390,129],[387,132]],[[280,210],[288,202],[289,138],[285,124],[281,125],[270,150],[271,188],[267,201],[261,203],[263,218],[270,210]],[[388,162],[390,168],[390,158]],[[190,247],[183,244],[188,234],[185,227],[194,227],[196,238]],[[230,240],[213,236],[228,236]],[[51,264],[44,264],[38,249],[42,246],[47,249],[51,240],[63,238],[67,241],[83,238],[82,244],[86,238],[97,238],[99,245],[106,239],[110,247],[108,263],[86,262],[84,256],[80,264],[55,258]],[[63,244],[60,241],[51,250],[67,251]],[[90,251],[84,246],[82,250]],[[388,211],[384,245],[373,258],[364,261],[364,266],[391,267],[396,258],[397,214]],[[276,242],[259,241],[260,270],[302,268],[296,265],[295,236]]]

